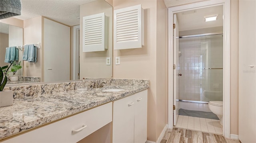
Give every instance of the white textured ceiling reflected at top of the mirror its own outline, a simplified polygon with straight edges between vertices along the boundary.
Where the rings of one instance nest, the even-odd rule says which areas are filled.
[[[65,25],[79,25],[80,5],[95,0],[21,0],[20,20],[45,16]]]

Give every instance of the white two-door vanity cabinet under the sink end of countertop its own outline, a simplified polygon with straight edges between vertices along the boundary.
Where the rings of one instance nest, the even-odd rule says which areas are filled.
[[[113,143],[145,143],[147,140],[148,90],[113,103]]]

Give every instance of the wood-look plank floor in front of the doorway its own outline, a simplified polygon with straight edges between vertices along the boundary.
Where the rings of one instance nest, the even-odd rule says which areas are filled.
[[[174,127],[167,129],[160,143],[241,143],[239,140],[226,139],[222,135],[192,131]]]

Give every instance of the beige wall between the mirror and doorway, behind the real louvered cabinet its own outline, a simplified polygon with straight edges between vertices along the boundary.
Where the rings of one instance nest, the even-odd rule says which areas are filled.
[[[144,8],[144,46],[114,50],[113,59],[120,57],[120,65],[113,66],[113,77],[150,80],[148,140],[156,141],[167,123],[167,9],[163,0],[113,1],[114,10],[137,4]]]

